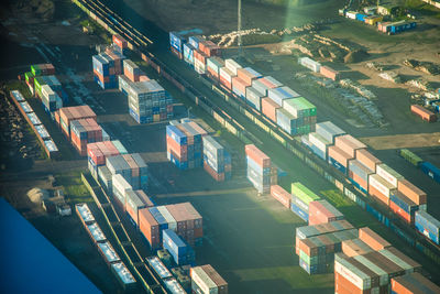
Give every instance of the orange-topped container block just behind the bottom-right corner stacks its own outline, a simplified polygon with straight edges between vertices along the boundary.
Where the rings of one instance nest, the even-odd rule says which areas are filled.
[[[308,274],[332,272],[334,253],[341,252],[343,241],[355,238],[358,229],[344,220],[297,228],[295,252],[299,265]]]

